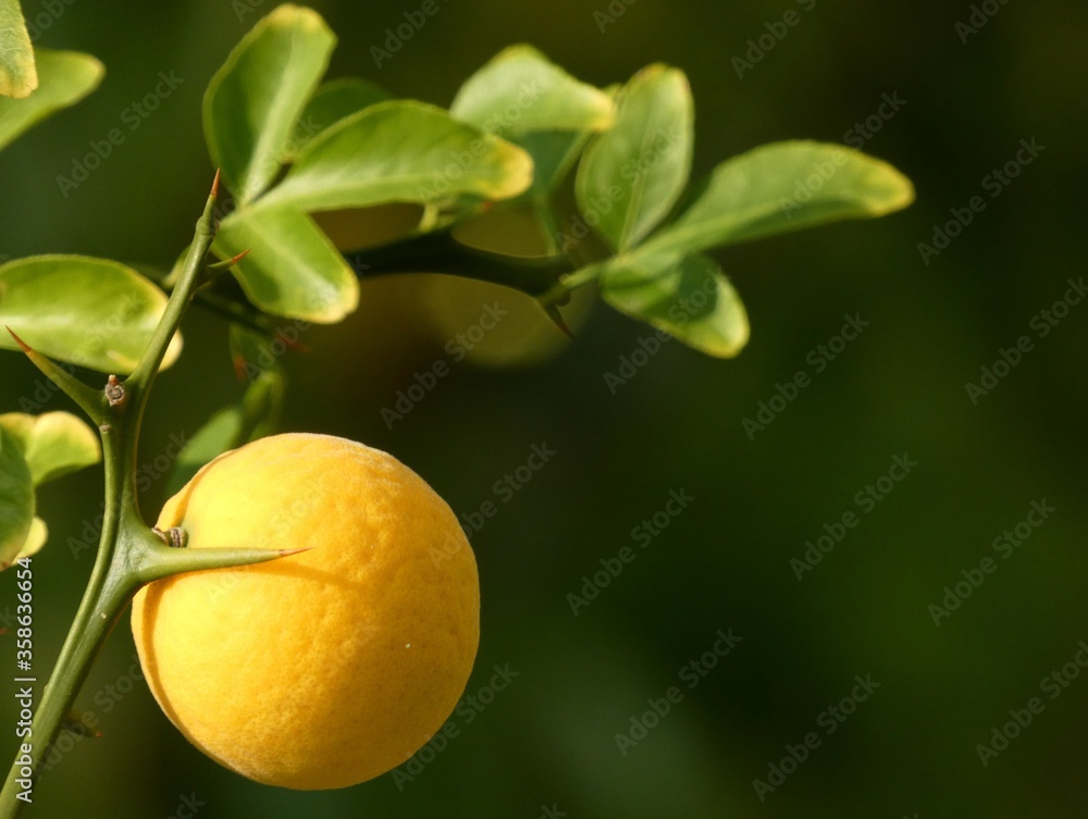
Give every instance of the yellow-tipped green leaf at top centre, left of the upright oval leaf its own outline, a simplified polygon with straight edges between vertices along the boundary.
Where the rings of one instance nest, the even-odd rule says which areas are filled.
[[[510,46],[466,80],[452,113],[499,136],[531,131],[604,131],[615,106],[599,88],[581,83],[532,46]]]

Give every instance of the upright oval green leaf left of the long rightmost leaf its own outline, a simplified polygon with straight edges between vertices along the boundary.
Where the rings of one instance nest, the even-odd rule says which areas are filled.
[[[638,245],[679,201],[691,173],[694,103],[688,77],[651,65],[616,100],[616,124],[586,149],[576,194],[596,231],[623,252]]]

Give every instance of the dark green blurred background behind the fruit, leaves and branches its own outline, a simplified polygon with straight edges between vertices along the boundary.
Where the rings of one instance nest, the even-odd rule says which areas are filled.
[[[125,621],[79,700],[103,736],[74,743],[38,785],[29,816],[183,817],[186,799],[207,819],[535,819],[545,808],[571,819],[1084,812],[1088,671],[1070,666],[1078,677],[1055,699],[1041,683],[1088,640],[1088,303],[1044,338],[1033,320],[1086,266],[1088,8],[992,2],[997,14],[962,42],[954,26],[972,14],[966,2],[818,0],[739,78],[731,60],[746,41],[812,0],[628,2],[621,15],[614,12],[625,7],[609,12],[607,0],[441,2],[381,69],[371,47],[418,4],[313,5],[339,36],[330,76],[360,75],[443,106],[469,73],[518,41],[598,85],[653,61],[678,65],[696,101],[696,175],[767,141],[843,141],[877,113],[881,95],[898,94],[905,103],[863,149],[915,182],[916,204],[719,252],[753,326],[735,360],[668,344],[614,395],[605,374],[650,331],[598,305],[571,344],[533,367],[452,364],[392,429],[381,410],[417,372],[449,359],[445,344],[474,321],[473,310],[524,300],[450,295],[425,278],[368,284],[358,313],[308,331],[309,351],[286,357],[284,426],[388,450],[457,512],[497,502],[499,513],[472,537],[483,637],[467,694],[489,684],[495,665],[518,677],[471,721],[455,713],[460,735],[413,781],[398,786],[386,775],[293,793],[243,780],[186,743],[146,685],[132,681]],[[28,0],[32,20],[51,14],[38,45],[94,53],[108,74],[86,101],[0,154],[0,253],[169,264],[211,179],[203,87],[273,7]],[[615,21],[602,32],[594,12]],[[55,177],[118,125],[160,71],[184,83],[62,196]],[[991,199],[984,178],[1031,138],[1044,150]],[[917,244],[976,195],[986,210],[925,264]],[[436,319],[434,303],[455,298],[472,309]],[[809,353],[848,314],[869,325],[817,372]],[[504,345],[518,330],[539,332],[508,325]],[[240,395],[225,334],[200,311],[187,320],[185,355],[160,380],[147,420],[148,459]],[[1023,335],[1034,350],[973,404],[965,384]],[[743,420],[798,371],[811,385],[750,437]],[[18,357],[0,357],[0,411],[17,410],[38,379]],[[72,409],[59,398],[48,408]],[[504,501],[495,482],[534,444],[555,456]],[[871,511],[858,506],[855,495],[904,454],[917,467]],[[151,512],[162,484],[145,496]],[[642,548],[632,529],[681,489],[693,500]],[[71,543],[98,513],[99,493],[92,470],[41,493],[52,539],[34,560],[40,666],[52,663],[89,571],[90,549],[73,554]],[[994,539],[1043,498],[1056,511],[1003,559]],[[846,511],[858,525],[799,581],[791,559]],[[625,546],[634,561],[574,616],[568,594],[580,594],[583,575]],[[935,625],[928,607],[987,556],[997,571]],[[13,573],[0,584],[13,600]],[[729,629],[743,640],[689,688],[681,669]],[[4,656],[13,655],[9,646]],[[879,687],[828,734],[826,710],[866,674]],[[285,684],[290,675],[285,668]],[[621,754],[616,734],[673,685],[682,699]],[[1041,698],[1042,712],[984,767],[976,745],[1030,697]],[[0,702],[0,725],[13,724],[12,699]],[[788,764],[793,772],[761,799],[753,781],[767,781],[768,766],[809,732],[819,746],[795,770]],[[14,736],[2,735],[10,756]]]

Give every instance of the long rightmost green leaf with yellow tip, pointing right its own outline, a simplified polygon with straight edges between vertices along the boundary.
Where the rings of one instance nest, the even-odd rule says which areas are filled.
[[[690,252],[842,219],[882,216],[914,201],[903,174],[839,145],[774,142],[734,157],[700,197],[645,244]]]

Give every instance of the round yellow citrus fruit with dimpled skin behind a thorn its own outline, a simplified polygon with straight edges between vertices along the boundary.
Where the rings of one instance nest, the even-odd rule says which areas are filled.
[[[205,467],[159,518],[187,547],[309,546],[140,590],[148,685],[205,754],[258,782],[345,787],[444,723],[480,638],[475,559],[445,501],[344,438],[262,438]]]

